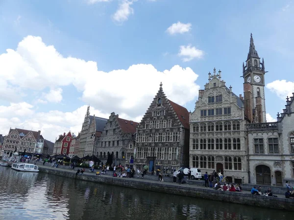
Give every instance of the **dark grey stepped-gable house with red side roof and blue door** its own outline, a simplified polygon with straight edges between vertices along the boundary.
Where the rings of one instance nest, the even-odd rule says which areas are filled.
[[[135,164],[164,174],[189,165],[189,112],[167,99],[162,84],[137,128]]]

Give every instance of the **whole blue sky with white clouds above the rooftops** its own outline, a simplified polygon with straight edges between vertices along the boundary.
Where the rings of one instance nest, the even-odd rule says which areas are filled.
[[[55,141],[91,115],[140,122],[162,82],[195,109],[208,72],[243,93],[250,33],[265,60],[267,121],[294,92],[294,2],[0,0],[0,133]]]

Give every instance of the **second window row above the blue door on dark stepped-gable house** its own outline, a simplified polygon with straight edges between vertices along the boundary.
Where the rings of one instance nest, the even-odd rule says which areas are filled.
[[[138,133],[136,142],[176,142],[179,141],[179,132]]]

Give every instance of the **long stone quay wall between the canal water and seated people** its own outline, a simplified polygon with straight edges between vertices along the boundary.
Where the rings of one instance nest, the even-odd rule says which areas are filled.
[[[114,178],[112,176],[96,176],[84,173],[83,176],[76,176],[75,172],[52,169],[49,167],[39,167],[40,172],[64,176],[67,178],[78,178],[84,181],[103,183],[108,185],[128,187],[132,189],[149,190],[153,192],[161,192],[173,195],[212,199],[217,201],[232,202],[244,205],[253,205],[257,207],[265,207],[272,209],[285,209],[293,211],[294,199],[274,198],[266,196],[254,196],[249,193],[242,192],[224,192],[206,188],[196,188],[193,185],[173,184],[169,182],[157,182],[136,178]],[[145,180],[145,181],[144,181]]]

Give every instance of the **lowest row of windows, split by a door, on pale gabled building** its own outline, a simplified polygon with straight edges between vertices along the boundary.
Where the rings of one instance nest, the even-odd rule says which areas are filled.
[[[195,168],[215,169],[214,156],[193,156],[192,166]],[[234,169],[233,169],[234,168]],[[240,156],[225,156],[224,157],[225,170],[242,170],[242,162]]]

